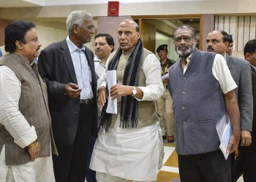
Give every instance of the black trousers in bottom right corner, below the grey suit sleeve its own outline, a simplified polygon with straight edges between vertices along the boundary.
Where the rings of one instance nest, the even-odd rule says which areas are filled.
[[[252,144],[239,146],[239,157],[234,165],[234,181],[243,173],[244,182],[256,181],[256,132],[251,132]]]

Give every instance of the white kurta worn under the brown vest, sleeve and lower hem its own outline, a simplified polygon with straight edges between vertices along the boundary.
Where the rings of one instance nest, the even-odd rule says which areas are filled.
[[[10,132],[14,142],[20,148],[24,148],[37,139],[37,133],[18,110],[20,85],[20,81],[10,68],[0,66],[0,124]],[[39,157],[34,162],[23,165],[6,165],[5,146],[0,152],[0,181],[55,181],[51,156]]]

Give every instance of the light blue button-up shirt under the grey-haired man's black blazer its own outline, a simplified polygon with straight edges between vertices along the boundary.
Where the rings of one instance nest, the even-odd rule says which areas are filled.
[[[70,41],[69,36],[67,36],[67,46],[69,47],[72,63],[75,68],[75,76],[78,81],[78,86],[82,89],[80,92],[80,99],[93,98],[94,94],[91,88],[91,68],[84,52],[85,47],[76,47],[76,45]]]

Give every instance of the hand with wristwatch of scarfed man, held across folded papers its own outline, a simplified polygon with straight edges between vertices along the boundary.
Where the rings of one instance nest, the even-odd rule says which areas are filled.
[[[115,84],[110,89],[110,96],[112,99],[127,95],[132,95],[132,86],[129,85],[122,85],[122,84]]]

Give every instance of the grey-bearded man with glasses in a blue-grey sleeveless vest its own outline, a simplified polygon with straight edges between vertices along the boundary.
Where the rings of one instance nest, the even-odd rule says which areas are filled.
[[[173,33],[180,59],[170,67],[170,95],[176,121],[176,151],[182,182],[230,182],[230,159],[219,149],[216,124],[226,111],[233,134],[227,153],[240,137],[237,85],[222,55],[195,49],[195,29],[181,25]]]

